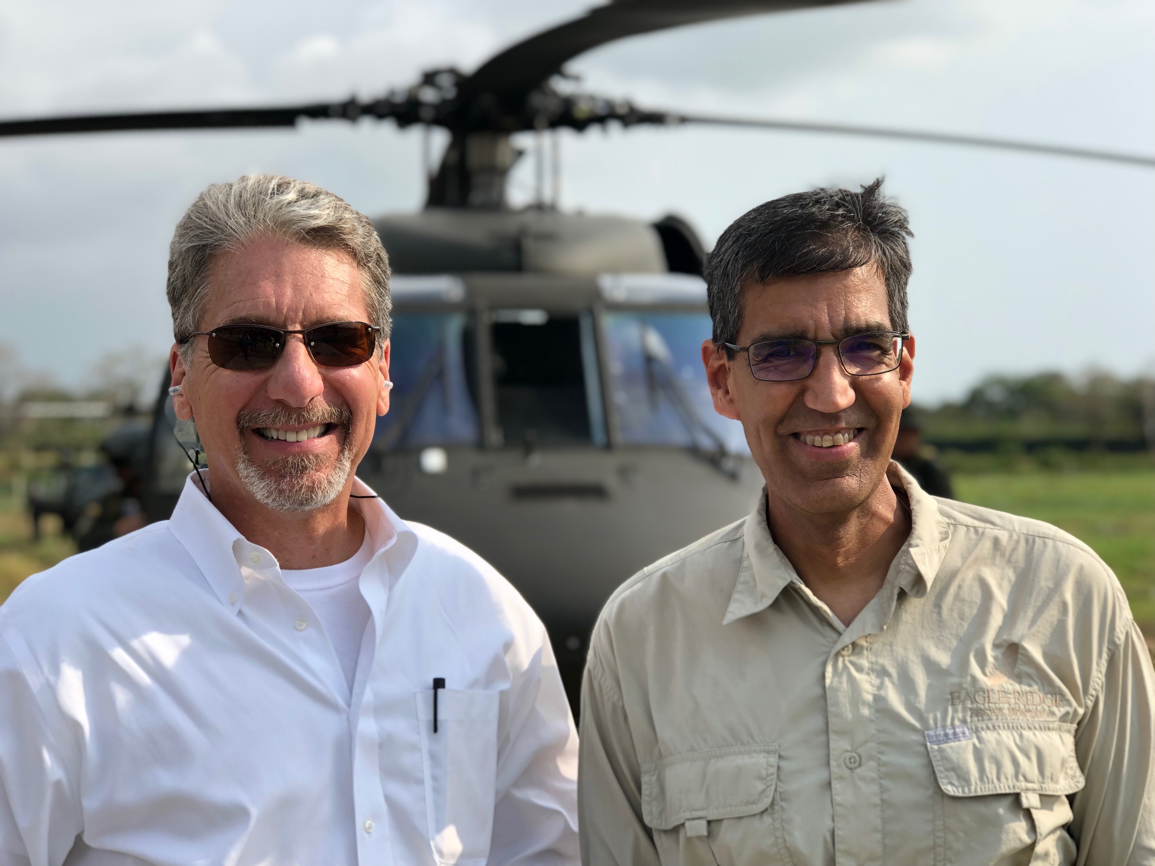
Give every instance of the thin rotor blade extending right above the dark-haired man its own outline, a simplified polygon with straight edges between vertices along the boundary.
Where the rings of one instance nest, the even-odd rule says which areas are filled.
[[[1155,167],[1155,157],[1139,154],[1122,154],[1113,150],[1095,150],[1091,148],[1072,148],[1061,144],[1043,144],[1029,141],[1008,139],[988,139],[978,135],[952,135],[948,133],[927,133],[912,129],[892,129],[874,126],[854,126],[850,124],[812,124],[793,120],[760,120],[754,118],[725,118],[707,114],[669,114],[670,124],[705,124],[710,126],[745,126],[757,129],[782,129],[799,133],[822,133],[827,135],[860,135],[872,139],[893,139],[896,141],[922,141],[934,144],[959,144],[994,150],[1018,150],[1027,154],[1048,154],[1076,159],[1095,159],[1125,165],[1140,165],[1145,169]]]

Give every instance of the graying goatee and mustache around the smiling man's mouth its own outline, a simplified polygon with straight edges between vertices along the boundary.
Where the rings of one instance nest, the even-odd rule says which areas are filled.
[[[353,471],[352,441],[349,426],[352,413],[346,408],[311,406],[291,412],[274,409],[240,412],[237,427],[241,448],[237,457],[237,475],[253,498],[274,512],[311,512],[333,502],[344,490]],[[338,424],[345,430],[336,464],[326,472],[329,458],[319,454],[293,454],[274,457],[258,464],[248,453],[245,431],[252,427],[289,427],[298,425]],[[260,435],[260,434],[258,434]]]

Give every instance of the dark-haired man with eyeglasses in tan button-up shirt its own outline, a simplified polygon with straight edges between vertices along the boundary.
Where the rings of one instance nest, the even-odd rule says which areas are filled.
[[[602,612],[586,864],[1155,863],[1155,672],[1115,575],[891,461],[909,234],[875,181],[720,238],[702,359],[766,488]]]

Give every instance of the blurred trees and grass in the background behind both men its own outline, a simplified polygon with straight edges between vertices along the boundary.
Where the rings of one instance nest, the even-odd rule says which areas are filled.
[[[33,531],[29,493],[79,468],[116,485],[102,470],[102,442],[150,423],[163,366],[141,350],[113,353],[89,387],[69,390],[23,373],[0,346],[0,600],[76,551],[77,529],[58,514],[40,516]],[[1089,544],[1155,644],[1155,380],[991,376],[915,417],[923,456],[951,472],[957,499],[1044,520]]]

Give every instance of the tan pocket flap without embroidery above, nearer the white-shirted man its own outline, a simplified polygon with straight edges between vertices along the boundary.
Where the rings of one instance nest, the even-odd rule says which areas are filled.
[[[687,752],[642,764],[642,818],[655,830],[754,815],[774,799],[777,745]]]

